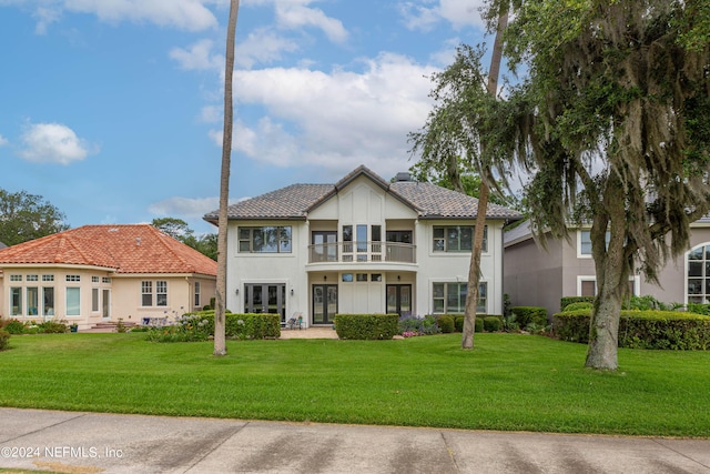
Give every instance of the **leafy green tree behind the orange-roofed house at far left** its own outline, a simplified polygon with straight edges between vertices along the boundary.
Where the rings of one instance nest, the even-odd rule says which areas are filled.
[[[0,242],[6,245],[65,231],[67,218],[41,195],[0,189]]]

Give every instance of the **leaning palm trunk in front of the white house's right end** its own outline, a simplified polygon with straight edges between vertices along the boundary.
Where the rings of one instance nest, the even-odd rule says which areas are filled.
[[[498,27],[496,28],[496,40],[493,46],[490,58],[490,70],[488,71],[488,93],[496,95],[498,91],[498,74],[500,73],[500,61],[503,58],[503,32],[508,27],[508,11],[503,11],[498,16]],[[481,149],[485,143],[480,144]],[[490,189],[486,184],[487,177],[480,174],[480,191],[478,193],[478,210],[476,213],[476,231],[474,233],[474,249],[470,255],[468,268],[468,291],[466,293],[466,313],[464,319],[464,331],[462,334],[462,349],[474,349],[474,333],[476,329],[476,306],[478,306],[478,285],[480,284],[480,253],[483,251],[484,231],[486,228],[486,212],[488,210],[488,195]]]

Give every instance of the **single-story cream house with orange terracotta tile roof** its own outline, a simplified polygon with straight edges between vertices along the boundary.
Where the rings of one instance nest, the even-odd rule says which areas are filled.
[[[0,250],[0,314],[91,327],[202,309],[216,262],[149,224],[84,225]]]

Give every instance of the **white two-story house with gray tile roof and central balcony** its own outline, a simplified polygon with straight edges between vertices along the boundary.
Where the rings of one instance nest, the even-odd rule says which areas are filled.
[[[407,177],[390,183],[359,167],[335,184],[231,205],[227,307],[306,325],[336,313],[463,313],[478,200]],[[519,218],[488,206],[480,313],[503,313],[503,226]]]

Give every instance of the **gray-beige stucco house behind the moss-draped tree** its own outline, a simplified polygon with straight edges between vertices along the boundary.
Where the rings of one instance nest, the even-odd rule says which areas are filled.
[[[591,258],[589,228],[570,230],[570,241],[547,239],[547,250],[532,239],[529,221],[505,234],[504,290],[514,306],[542,306],[560,311],[562,296],[594,296],[597,276]],[[665,303],[710,303],[710,219],[690,225],[690,248],[667,262],[660,286],[642,275],[629,279],[637,296],[651,295]]]

